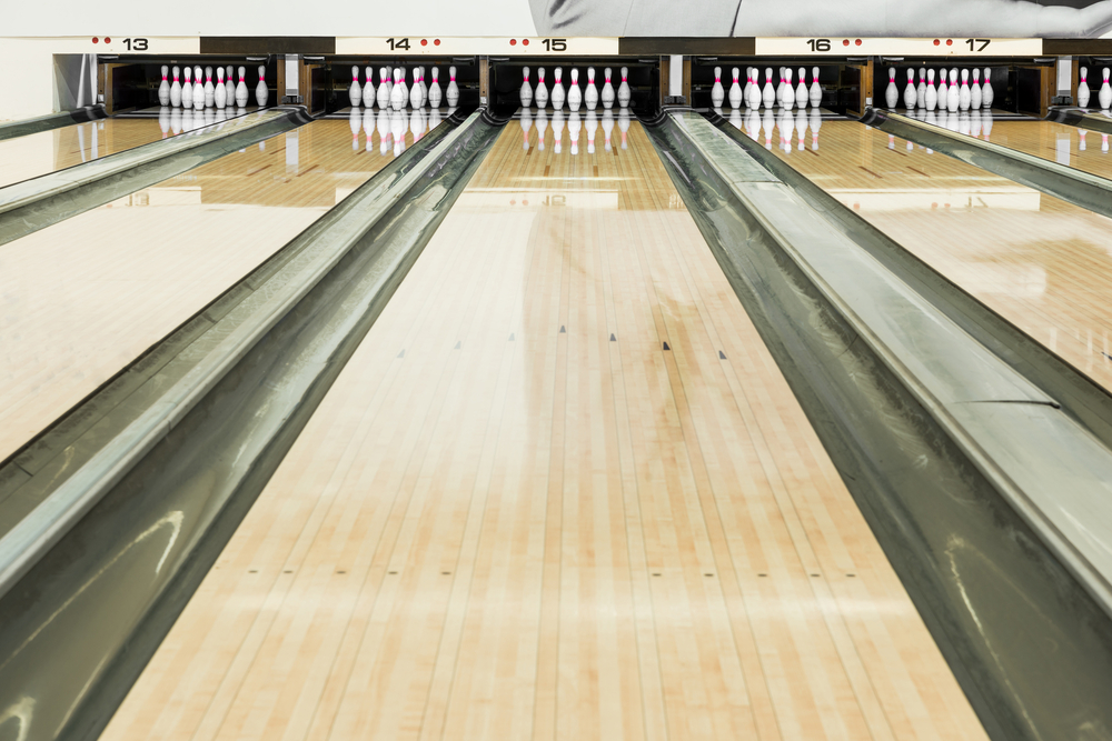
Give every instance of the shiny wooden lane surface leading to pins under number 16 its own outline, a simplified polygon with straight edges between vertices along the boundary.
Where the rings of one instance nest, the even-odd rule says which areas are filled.
[[[818,142],[773,151],[1112,390],[1112,220],[854,121]]]

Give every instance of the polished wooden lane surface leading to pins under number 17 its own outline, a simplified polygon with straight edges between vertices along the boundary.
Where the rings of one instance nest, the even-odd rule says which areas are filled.
[[[951,113],[951,117],[959,116]],[[930,121],[929,121],[930,122]],[[980,127],[946,127],[941,120],[936,124],[951,131],[977,136],[1001,147],[1007,147],[1044,160],[1065,164],[1101,178],[1112,178],[1112,156],[1109,154],[1109,134],[1085,131],[1078,127],[1052,121],[1000,120],[994,119],[987,128],[982,118]]]

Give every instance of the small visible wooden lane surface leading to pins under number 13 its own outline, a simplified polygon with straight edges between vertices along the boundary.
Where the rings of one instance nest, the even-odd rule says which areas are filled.
[[[102,119],[0,141],[0,188],[165,139],[158,119]]]

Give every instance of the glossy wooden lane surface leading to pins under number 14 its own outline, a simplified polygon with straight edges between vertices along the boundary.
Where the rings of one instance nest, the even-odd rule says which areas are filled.
[[[393,159],[360,137],[315,121],[0,247],[0,459]]]

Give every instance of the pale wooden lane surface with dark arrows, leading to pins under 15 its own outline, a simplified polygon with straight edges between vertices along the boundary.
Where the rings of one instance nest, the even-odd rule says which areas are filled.
[[[509,124],[103,739],[985,738],[644,131],[569,136]]]

